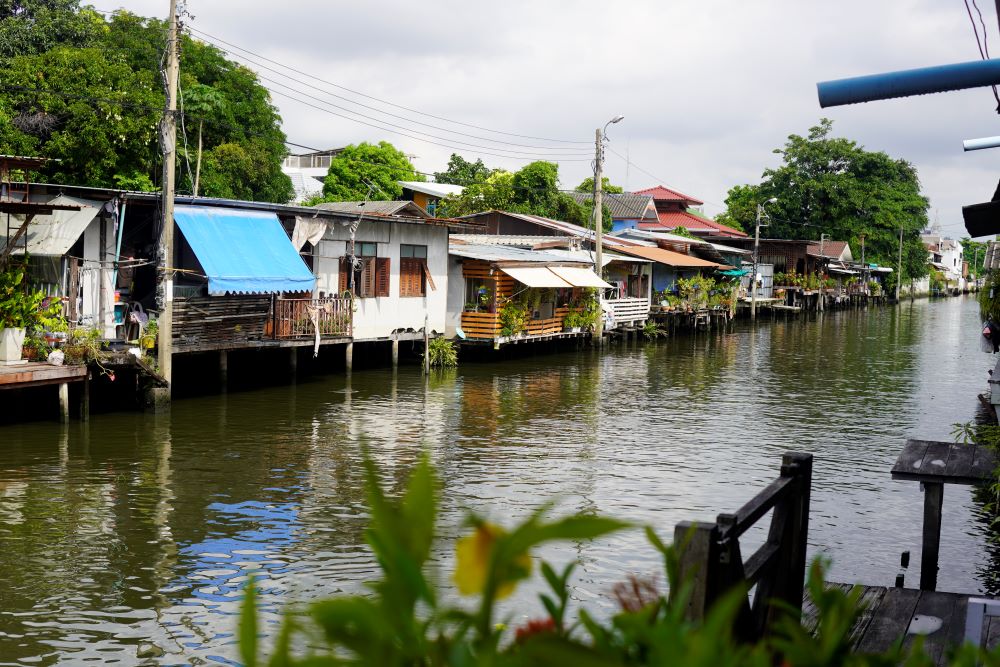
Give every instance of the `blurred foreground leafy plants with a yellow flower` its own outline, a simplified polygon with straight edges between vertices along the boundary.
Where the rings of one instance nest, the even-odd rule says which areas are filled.
[[[574,563],[561,570],[541,562],[547,590],[536,614],[513,624],[513,614],[498,615],[497,602],[535,574],[532,550],[552,542],[579,542],[635,526],[614,519],[574,515],[547,518],[542,506],[516,526],[504,528],[470,514],[467,534],[455,547],[451,576],[471,605],[445,602],[428,570],[438,508],[438,482],[425,455],[398,496],[382,486],[379,472],[365,460],[371,524],[367,541],[378,558],[381,577],[368,595],[343,595],[311,604],[304,613],[287,613],[269,662],[260,660],[256,589],[247,588],[240,620],[243,664],[270,665],[929,665],[917,641],[898,644],[885,655],[851,653],[850,637],[861,612],[860,590],[850,593],[823,585],[824,566],[810,568],[808,592],[818,610],[814,627],[804,628],[795,614],[776,633],[757,643],[740,643],[732,628],[746,591],[735,589],[694,622],[686,617],[690,593],[678,576],[678,557],[652,528],[645,529],[659,552],[670,595],[654,579],[630,576],[612,589],[618,610],[607,621],[586,608],[569,609]],[[521,610],[519,615],[523,615]],[[511,627],[513,625],[513,627]],[[1000,665],[1000,653],[970,645],[954,650],[953,665]]]

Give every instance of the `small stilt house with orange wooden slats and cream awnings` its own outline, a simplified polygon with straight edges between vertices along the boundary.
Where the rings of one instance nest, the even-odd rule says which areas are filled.
[[[611,287],[592,262],[565,255],[458,240],[450,253],[448,332],[494,347],[588,335],[567,317],[587,310],[593,289]]]

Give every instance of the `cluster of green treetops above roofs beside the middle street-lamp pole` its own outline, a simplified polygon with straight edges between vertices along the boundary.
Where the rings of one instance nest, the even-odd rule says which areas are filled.
[[[489,210],[530,213],[546,218],[591,226],[594,205],[578,203],[559,189],[559,165],[539,160],[516,172],[494,170],[482,183],[467,185],[465,191],[443,202],[445,215],[459,216]],[[604,207],[604,229],[611,229],[611,214]]]

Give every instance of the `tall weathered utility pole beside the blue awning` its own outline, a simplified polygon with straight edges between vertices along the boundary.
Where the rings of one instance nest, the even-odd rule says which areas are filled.
[[[177,75],[180,64],[180,40],[177,32],[177,0],[170,0],[170,29],[167,36],[167,107],[160,124],[160,145],[163,147],[163,211],[160,235],[159,281],[162,289],[162,306],[159,317],[159,354],[157,363],[160,375],[167,386],[156,391],[156,402],[170,401],[173,384],[173,333],[174,333],[174,172],[177,160]],[[159,290],[158,290],[159,291]]]

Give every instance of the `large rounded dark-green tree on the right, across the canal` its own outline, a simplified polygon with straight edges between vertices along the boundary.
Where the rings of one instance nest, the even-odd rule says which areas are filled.
[[[832,137],[833,122],[822,119],[805,137],[792,134],[782,165],[764,171],[759,185],[737,185],[726,197],[724,224],[754,228],[757,205],[766,204],[766,236],[786,239],[849,241],[865,260],[895,266],[903,230],[903,278],[927,273],[927,251],[920,231],[927,226],[928,201],[920,193],[917,170],[906,160],[866,151],[850,139]],[[895,276],[893,276],[893,279]]]

